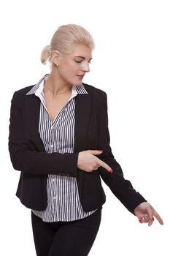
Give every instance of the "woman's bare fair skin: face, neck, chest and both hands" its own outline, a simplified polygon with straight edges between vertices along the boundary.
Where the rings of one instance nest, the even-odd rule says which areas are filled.
[[[52,120],[69,101],[72,95],[72,85],[79,86],[86,72],[90,72],[91,59],[92,51],[85,45],[75,45],[72,53],[66,56],[63,56],[58,50],[53,51],[52,70],[45,81],[44,89],[47,111]],[[85,172],[93,172],[98,167],[104,167],[109,173],[112,173],[111,167],[96,157],[101,153],[102,151],[90,149],[79,152],[77,167]],[[155,217],[163,225],[163,220],[150,203],[139,204],[134,209],[134,214],[140,223],[148,223],[150,226]]]

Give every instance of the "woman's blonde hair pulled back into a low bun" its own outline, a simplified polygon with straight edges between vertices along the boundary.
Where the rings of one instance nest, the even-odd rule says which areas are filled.
[[[59,26],[51,39],[50,45],[45,46],[41,53],[42,64],[50,62],[53,50],[58,50],[63,56],[72,53],[75,45],[82,44],[88,46],[91,50],[95,48],[93,37],[82,26],[68,24]]]

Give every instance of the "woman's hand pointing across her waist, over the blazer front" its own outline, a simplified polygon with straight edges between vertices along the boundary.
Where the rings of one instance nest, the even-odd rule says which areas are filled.
[[[98,159],[98,157],[94,156],[95,154],[98,155],[101,153],[102,151],[99,150],[81,151],[78,155],[77,167],[81,170],[85,170],[86,172],[90,173],[93,170],[97,170],[98,167],[102,166],[106,170],[108,170],[109,173],[112,173],[112,169],[111,167],[109,167],[109,165],[101,161],[101,159]]]

